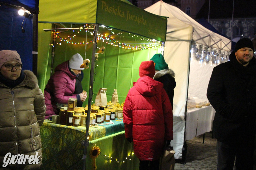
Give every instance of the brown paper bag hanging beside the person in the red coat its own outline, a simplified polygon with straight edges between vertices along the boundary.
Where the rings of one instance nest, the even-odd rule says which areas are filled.
[[[159,170],[174,170],[174,154],[175,151],[173,150],[173,147],[166,144],[164,152],[160,158]]]

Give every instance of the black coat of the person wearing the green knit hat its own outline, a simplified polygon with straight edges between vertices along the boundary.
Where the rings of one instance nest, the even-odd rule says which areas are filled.
[[[170,99],[173,108],[173,95],[174,95],[174,88],[176,87],[176,82],[174,77],[169,74],[165,74],[159,78],[155,78],[156,81],[159,81],[164,84],[164,89]]]

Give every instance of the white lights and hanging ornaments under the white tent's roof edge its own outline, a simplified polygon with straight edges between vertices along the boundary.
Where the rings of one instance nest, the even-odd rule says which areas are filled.
[[[210,66],[217,66],[229,60],[230,52],[220,50],[218,48],[209,47],[207,45],[198,44],[192,41],[191,44],[191,62],[198,61],[199,64],[210,64]]]

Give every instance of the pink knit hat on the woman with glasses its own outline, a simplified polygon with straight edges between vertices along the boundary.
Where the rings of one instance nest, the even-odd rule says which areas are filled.
[[[0,69],[2,68],[3,64],[8,61],[16,61],[19,64],[22,64],[21,59],[17,51],[12,50],[2,50],[0,51]]]

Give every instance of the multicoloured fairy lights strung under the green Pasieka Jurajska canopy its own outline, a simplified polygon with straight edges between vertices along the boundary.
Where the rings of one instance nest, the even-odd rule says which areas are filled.
[[[100,26],[101,27],[101,26]],[[113,32],[113,30],[111,28],[102,26],[106,29],[109,30],[109,32],[111,33],[110,35],[107,34],[101,34],[99,31],[97,32],[97,40],[98,41],[102,41],[105,42],[106,44],[110,44],[113,45],[115,47],[120,47],[120,48],[124,48],[124,49],[132,49],[132,50],[144,50],[144,49],[150,49],[150,48],[154,48],[154,47],[159,47],[161,45],[163,45],[163,42],[161,41],[157,41],[154,39],[146,39],[142,36],[139,35],[135,35],[132,33],[115,33]],[[94,43],[93,40],[92,41],[88,41],[88,42],[84,42],[84,41],[80,41],[80,42],[74,42],[72,39],[77,37],[77,34],[81,33],[82,31],[85,32],[89,32],[91,35],[93,35],[94,31],[90,31],[90,29],[93,28],[92,25],[90,24],[85,24],[83,26],[81,26],[80,28],[73,30],[72,33],[70,35],[68,35],[67,37],[62,37],[60,34],[61,32],[58,32],[57,30],[52,31],[52,33],[54,34],[54,36],[56,38],[59,39],[59,41],[56,41],[56,45],[61,45],[63,43],[70,43],[70,44],[74,44],[74,45],[85,45],[85,44],[89,44],[89,43]],[[132,44],[132,43],[123,43],[120,41],[116,41],[116,38],[124,38],[124,37],[138,37],[140,38],[140,40],[145,41],[147,43],[139,43],[139,44]],[[54,44],[50,44],[51,46],[54,46]]]

